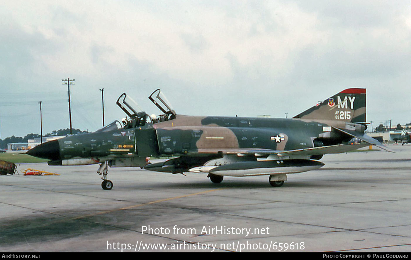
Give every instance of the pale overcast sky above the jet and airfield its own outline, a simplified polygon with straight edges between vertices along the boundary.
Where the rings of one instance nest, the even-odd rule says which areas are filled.
[[[367,88],[367,121],[411,121],[411,3],[0,0],[0,138],[102,126],[126,92],[148,114],[292,117]]]

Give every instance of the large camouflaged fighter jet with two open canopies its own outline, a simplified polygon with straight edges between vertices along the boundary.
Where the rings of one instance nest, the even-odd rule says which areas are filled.
[[[344,153],[373,144],[364,134],[365,88],[349,88],[293,118],[186,116],[175,113],[160,89],[149,99],[162,111],[148,115],[126,93],[117,105],[125,112],[95,132],[67,136],[29,150],[48,165],[100,164],[102,188],[110,190],[109,167],[141,167],[150,171],[207,173],[213,183],[224,176],[268,175],[279,187],[286,174],[319,169],[326,153]],[[351,145],[358,138],[361,144]],[[147,158],[172,157],[148,164]]]

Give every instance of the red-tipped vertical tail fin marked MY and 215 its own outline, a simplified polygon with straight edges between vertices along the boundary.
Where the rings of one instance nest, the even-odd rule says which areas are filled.
[[[293,118],[365,122],[365,88],[347,88]]]

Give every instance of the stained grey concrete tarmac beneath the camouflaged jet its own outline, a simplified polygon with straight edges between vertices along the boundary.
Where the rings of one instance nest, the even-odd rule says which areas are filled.
[[[279,188],[128,167],[103,190],[98,165],[21,164],[61,175],[0,176],[0,251],[410,252],[411,145],[389,147],[325,155]]]

